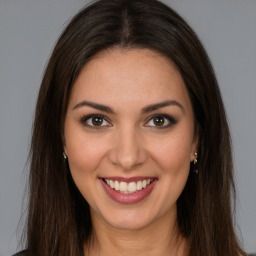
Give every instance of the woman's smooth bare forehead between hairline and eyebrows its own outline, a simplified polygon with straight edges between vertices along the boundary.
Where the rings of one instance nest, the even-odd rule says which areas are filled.
[[[170,99],[190,107],[186,86],[171,60],[148,49],[112,49],[83,67],[70,103],[90,100],[139,106]]]

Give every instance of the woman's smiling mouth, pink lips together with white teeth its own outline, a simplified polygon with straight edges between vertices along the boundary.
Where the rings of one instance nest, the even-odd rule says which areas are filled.
[[[133,204],[148,197],[158,179],[152,177],[99,178],[107,195],[118,203]]]

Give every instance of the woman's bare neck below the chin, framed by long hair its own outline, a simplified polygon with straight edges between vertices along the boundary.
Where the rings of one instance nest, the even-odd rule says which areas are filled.
[[[100,224],[100,225],[98,225]],[[176,222],[158,220],[138,230],[120,230],[93,220],[90,247],[85,255],[113,256],[186,256],[186,239],[180,235]]]

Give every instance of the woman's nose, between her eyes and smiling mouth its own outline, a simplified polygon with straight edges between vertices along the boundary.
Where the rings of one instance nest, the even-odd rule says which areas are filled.
[[[147,160],[142,137],[135,128],[122,129],[116,132],[109,159],[112,164],[124,170],[131,170]]]

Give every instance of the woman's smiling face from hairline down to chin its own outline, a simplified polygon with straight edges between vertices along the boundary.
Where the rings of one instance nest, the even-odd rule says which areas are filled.
[[[93,223],[134,230],[176,219],[197,136],[171,61],[146,49],[98,54],[73,86],[64,136]]]

